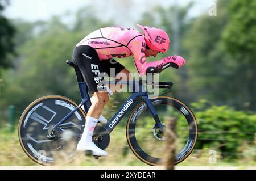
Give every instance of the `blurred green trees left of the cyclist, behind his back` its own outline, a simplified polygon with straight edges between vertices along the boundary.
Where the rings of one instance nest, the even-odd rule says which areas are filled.
[[[91,18],[98,23],[93,24]],[[81,19],[77,17],[78,21]],[[90,22],[87,25],[92,30],[106,26],[106,22],[93,16],[87,16],[86,21]],[[14,104],[18,111],[23,111],[33,100],[51,94],[80,101],[75,71],[64,61],[72,60],[73,48],[89,33],[88,28],[74,30],[62,23],[58,16],[49,22],[15,20],[14,23],[19,33],[16,40],[19,57],[15,58],[18,62],[15,68],[3,75],[2,107]]]

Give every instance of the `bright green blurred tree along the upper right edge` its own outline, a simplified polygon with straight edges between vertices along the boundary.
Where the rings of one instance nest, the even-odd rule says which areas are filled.
[[[256,110],[256,0],[234,0],[222,43],[232,58],[237,104]]]

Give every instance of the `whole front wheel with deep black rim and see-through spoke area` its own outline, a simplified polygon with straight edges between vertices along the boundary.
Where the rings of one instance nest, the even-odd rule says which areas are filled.
[[[198,132],[196,117],[188,106],[175,98],[159,96],[151,99],[151,102],[164,128],[170,117],[177,120],[175,164],[184,161],[196,145]],[[164,164],[168,154],[166,137],[159,134],[146,102],[139,103],[131,113],[127,122],[126,137],[130,149],[142,162],[152,166]]]

